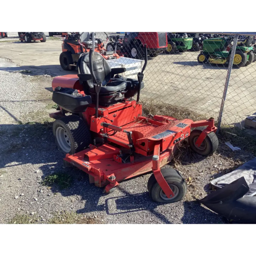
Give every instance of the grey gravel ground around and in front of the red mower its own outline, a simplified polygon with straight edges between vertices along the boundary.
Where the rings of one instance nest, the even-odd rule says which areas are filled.
[[[21,216],[29,223],[48,224],[56,215],[65,222],[60,212],[74,212],[102,224],[224,223],[195,198],[210,192],[207,184],[213,177],[235,169],[252,155],[241,160],[221,151],[204,158],[181,146],[183,153],[171,165],[182,172],[189,192],[179,203],[150,201],[147,181],[151,174],[122,182],[116,192],[104,195],[103,189],[89,184],[85,173],[63,169],[64,156],[55,147],[48,117],[54,112],[52,78],[34,75],[0,73],[0,224],[19,222]],[[68,175],[67,189],[42,185],[45,177],[55,173]]]

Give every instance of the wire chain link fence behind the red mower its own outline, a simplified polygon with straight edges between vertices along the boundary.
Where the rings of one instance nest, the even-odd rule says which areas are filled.
[[[111,67],[137,79],[148,66],[142,100],[185,107],[223,124],[256,112],[255,32],[95,32]],[[97,50],[97,45],[95,45]],[[233,53],[233,54],[232,54]]]

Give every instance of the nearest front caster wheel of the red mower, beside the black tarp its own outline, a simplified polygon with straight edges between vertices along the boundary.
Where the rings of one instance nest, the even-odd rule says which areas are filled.
[[[151,199],[157,203],[174,203],[181,201],[186,196],[186,181],[175,169],[162,169],[161,172],[175,196],[173,198],[167,198],[153,174],[148,180],[148,192]]]

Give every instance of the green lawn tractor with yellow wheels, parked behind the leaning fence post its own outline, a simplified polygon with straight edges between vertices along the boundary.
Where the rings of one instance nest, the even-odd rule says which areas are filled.
[[[200,64],[229,64],[233,36],[204,40],[203,51],[198,55]],[[248,66],[254,61],[254,48],[250,40],[239,42],[236,46],[234,67]]]

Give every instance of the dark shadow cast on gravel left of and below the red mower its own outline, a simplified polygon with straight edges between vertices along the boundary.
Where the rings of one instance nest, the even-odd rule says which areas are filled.
[[[61,193],[64,197],[78,195],[84,207],[77,210],[77,213],[102,212],[107,215],[123,215],[129,212],[147,211],[165,224],[172,224],[175,215],[165,215],[162,204],[154,203],[150,200],[148,192],[132,194],[123,187],[118,188],[118,196],[103,194],[103,189],[97,188],[89,183],[88,175],[79,169],[63,169],[64,155],[59,152],[55,145],[52,134],[52,123],[29,123],[25,125],[1,125],[0,127],[0,169],[6,166],[15,167],[26,164],[40,165],[43,172],[42,179],[53,173],[66,173],[70,175],[72,182],[67,189],[60,190],[58,186],[52,186],[53,193]],[[34,172],[32,170],[32,172]],[[124,181],[123,183],[129,183]],[[116,192],[116,193],[117,193]],[[121,194],[121,195],[120,195]],[[103,200],[102,200],[103,199]],[[103,203],[102,203],[103,202]],[[115,204],[116,207],[111,207]],[[160,208],[159,208],[160,207]],[[182,221],[184,224],[212,224],[218,223],[219,217],[209,212],[199,204],[189,204],[184,202],[167,205],[166,207],[185,208]],[[182,210],[182,209],[181,209]],[[192,213],[194,215],[192,215]],[[205,216],[208,221],[204,221]],[[221,221],[220,221],[221,222]]]

